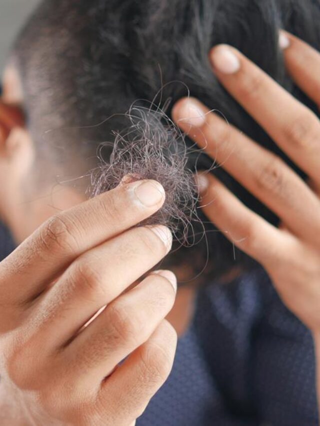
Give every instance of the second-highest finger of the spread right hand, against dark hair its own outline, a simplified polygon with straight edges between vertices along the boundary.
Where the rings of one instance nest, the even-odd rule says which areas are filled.
[[[210,58],[227,91],[319,183],[320,122],[316,115],[235,48],[219,45]]]

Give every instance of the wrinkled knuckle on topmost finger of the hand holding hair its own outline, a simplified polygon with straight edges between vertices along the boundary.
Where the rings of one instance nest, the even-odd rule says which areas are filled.
[[[41,245],[50,253],[54,251],[73,251],[76,240],[71,223],[65,215],[52,216],[40,229]]]

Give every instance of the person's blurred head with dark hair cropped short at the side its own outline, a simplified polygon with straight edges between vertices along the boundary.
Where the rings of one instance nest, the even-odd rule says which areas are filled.
[[[165,106],[170,114],[174,102],[188,90],[284,157],[217,83],[207,54],[217,43],[237,47],[315,110],[285,74],[278,29],[285,28],[316,47],[319,18],[318,0],[43,0],[15,44],[4,80],[4,97],[21,103],[26,117],[23,137],[15,137],[25,142],[16,155],[20,161],[14,170],[19,173],[12,181],[18,183],[9,193],[20,185],[28,197],[38,200],[36,194],[45,194],[52,185],[65,181],[73,185],[76,177],[96,167],[99,145],[113,141],[114,131],[128,127],[124,113],[133,102],[139,99],[138,105],[147,108],[153,102],[152,109]],[[191,146],[189,140],[186,144]],[[109,154],[108,149],[102,153],[106,160]],[[192,171],[210,166],[204,155],[188,156]],[[6,173],[12,173],[12,167]],[[277,221],[221,168],[214,173],[250,208]],[[5,174],[0,178],[5,179]],[[67,186],[67,196],[58,198],[59,207],[84,197],[72,185]],[[7,218],[5,206],[2,210]],[[9,221],[11,227],[14,223]],[[205,228],[206,238],[199,245],[177,252],[179,261],[192,254],[199,272],[208,246],[216,275],[250,263],[239,252],[234,260],[225,237],[210,225]],[[195,234],[203,232],[200,224],[193,229]]]

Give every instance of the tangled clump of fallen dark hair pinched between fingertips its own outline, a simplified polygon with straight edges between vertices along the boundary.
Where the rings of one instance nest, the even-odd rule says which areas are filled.
[[[128,127],[114,132],[114,140],[99,148],[100,164],[92,174],[93,196],[115,188],[124,177],[126,182],[160,182],[165,202],[142,225],[166,225],[177,241],[188,245],[198,195],[193,174],[186,166],[183,135],[160,109],[133,105],[125,116]]]

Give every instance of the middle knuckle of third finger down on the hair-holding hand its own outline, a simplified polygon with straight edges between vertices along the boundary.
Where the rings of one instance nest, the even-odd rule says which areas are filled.
[[[143,324],[134,315],[129,315],[125,306],[115,302],[109,306],[108,325],[113,330],[116,339],[125,345],[139,345],[139,336],[143,334]]]

